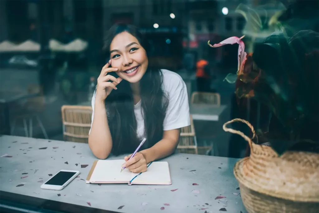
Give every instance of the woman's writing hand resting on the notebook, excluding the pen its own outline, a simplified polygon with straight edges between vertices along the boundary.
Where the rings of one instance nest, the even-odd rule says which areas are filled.
[[[147,164],[144,155],[140,152],[137,152],[135,156],[129,160],[131,155],[124,157],[126,162],[122,166],[135,173],[145,172],[147,170]]]

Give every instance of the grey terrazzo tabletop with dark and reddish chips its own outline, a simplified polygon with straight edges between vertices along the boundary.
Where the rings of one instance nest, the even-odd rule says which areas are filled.
[[[94,208],[119,212],[219,212],[221,208],[247,212],[236,189],[235,158],[174,154],[163,159],[169,163],[172,185],[99,186],[84,181],[96,160],[88,144],[4,135],[0,137],[0,150],[0,156],[12,156],[0,157],[1,191],[80,206],[89,206],[90,202]],[[119,158],[123,156],[110,157]],[[81,168],[83,164],[88,166]],[[48,174],[61,169],[81,173],[61,191],[40,188],[41,182],[50,178]],[[19,184],[24,185],[16,187]],[[226,198],[215,200],[219,195]],[[118,209],[120,206],[124,207]]]

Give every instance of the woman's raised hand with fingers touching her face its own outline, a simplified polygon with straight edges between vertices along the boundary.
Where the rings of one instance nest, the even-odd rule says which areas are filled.
[[[122,81],[122,78],[120,77],[115,78],[112,75],[108,75],[108,72],[115,72],[118,70],[117,68],[109,67],[110,65],[111,60],[109,60],[108,63],[102,68],[96,86],[95,100],[104,101],[113,89],[117,89],[116,85],[118,85]],[[110,82],[108,80],[112,80],[113,82]]]

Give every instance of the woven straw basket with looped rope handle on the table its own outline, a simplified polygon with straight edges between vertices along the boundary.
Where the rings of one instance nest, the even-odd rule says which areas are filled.
[[[226,132],[241,135],[248,141],[251,154],[234,166],[242,201],[249,213],[318,213],[319,155],[287,151],[282,156],[269,146],[255,144],[244,133],[227,128],[236,118],[223,125]]]

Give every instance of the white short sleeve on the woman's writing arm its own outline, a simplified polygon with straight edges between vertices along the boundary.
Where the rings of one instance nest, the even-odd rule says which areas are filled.
[[[180,76],[178,76],[176,79],[174,78],[174,80],[171,80],[171,85],[167,86],[169,87],[169,103],[163,123],[164,131],[178,129],[190,125],[186,84]]]

